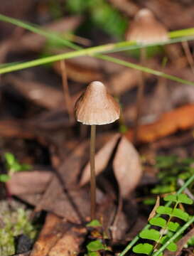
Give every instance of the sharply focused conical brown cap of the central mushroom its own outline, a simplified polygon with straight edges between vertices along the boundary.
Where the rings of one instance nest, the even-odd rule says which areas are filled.
[[[102,82],[91,82],[75,103],[75,117],[82,124],[110,124],[119,115],[119,104]]]

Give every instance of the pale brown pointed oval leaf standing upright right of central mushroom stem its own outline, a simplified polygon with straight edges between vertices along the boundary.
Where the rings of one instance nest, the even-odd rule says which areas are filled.
[[[122,197],[128,196],[139,183],[142,169],[139,154],[124,136],[114,156],[113,169]]]

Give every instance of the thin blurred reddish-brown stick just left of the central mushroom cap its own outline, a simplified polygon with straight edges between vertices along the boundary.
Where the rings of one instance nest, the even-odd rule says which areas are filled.
[[[73,114],[72,100],[70,98],[70,91],[68,87],[68,78],[67,78],[67,73],[65,68],[65,60],[60,60],[60,69],[61,69],[61,75],[63,80],[63,92],[65,97],[65,104],[68,109],[70,122],[72,122],[74,120],[74,114]]]

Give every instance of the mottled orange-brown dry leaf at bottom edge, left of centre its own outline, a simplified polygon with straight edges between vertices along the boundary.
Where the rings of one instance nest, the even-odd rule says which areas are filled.
[[[87,230],[49,213],[31,256],[77,255]],[[76,253],[75,253],[76,252]]]

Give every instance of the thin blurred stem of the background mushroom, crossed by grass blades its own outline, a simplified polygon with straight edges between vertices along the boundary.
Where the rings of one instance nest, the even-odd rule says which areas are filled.
[[[146,62],[146,48],[140,49],[140,64],[145,65]],[[141,117],[141,105],[144,100],[144,73],[141,72],[139,75],[139,87],[136,98],[136,117],[134,120],[134,144],[136,144],[138,140],[138,132],[139,132],[139,119]]]

